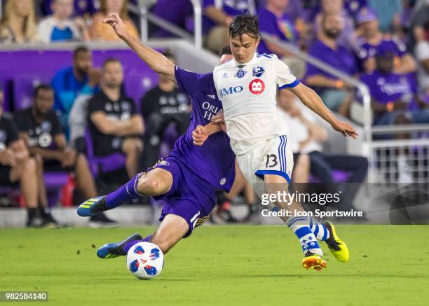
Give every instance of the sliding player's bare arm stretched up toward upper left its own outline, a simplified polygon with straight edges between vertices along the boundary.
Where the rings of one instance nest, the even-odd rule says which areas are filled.
[[[116,13],[111,13],[107,18],[102,20],[103,23],[111,25],[111,27],[116,32],[116,35],[125,43],[134,50],[139,57],[151,67],[158,74],[163,74],[164,76],[170,78],[171,81],[175,80],[175,65],[170,62],[167,57],[159,53],[158,51],[144,46],[137,39],[133,38],[128,34],[127,29],[123,25],[122,19]]]

